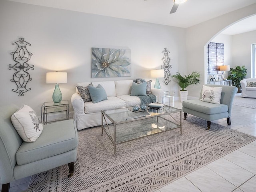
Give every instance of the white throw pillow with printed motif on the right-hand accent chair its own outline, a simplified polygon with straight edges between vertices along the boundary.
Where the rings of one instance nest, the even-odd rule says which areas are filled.
[[[208,87],[203,85],[201,101],[220,104],[222,87]]]

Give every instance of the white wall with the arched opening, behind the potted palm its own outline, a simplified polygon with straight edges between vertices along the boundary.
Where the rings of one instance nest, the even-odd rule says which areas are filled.
[[[205,54],[208,43],[228,26],[254,14],[256,14],[256,3],[187,28],[187,71],[195,70],[202,74],[201,86],[207,80]],[[232,60],[234,61],[234,58]],[[189,86],[189,96],[198,97],[200,85]]]

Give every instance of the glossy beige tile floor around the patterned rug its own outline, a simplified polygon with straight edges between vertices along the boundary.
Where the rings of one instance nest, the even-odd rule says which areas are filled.
[[[182,104],[174,102],[174,107]],[[232,125],[214,123],[256,136],[256,109],[233,106]],[[256,141],[199,168],[155,192],[256,192]],[[10,192],[26,192],[30,177],[11,183]],[[0,186],[1,188],[1,186]]]

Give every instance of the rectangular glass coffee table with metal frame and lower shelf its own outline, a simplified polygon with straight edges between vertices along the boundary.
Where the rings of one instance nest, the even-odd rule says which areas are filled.
[[[179,113],[174,116],[174,113]],[[102,135],[106,132],[114,145],[132,141],[152,134],[180,128],[182,134],[182,110],[164,105],[164,109],[148,108],[134,112],[132,107],[102,110]]]

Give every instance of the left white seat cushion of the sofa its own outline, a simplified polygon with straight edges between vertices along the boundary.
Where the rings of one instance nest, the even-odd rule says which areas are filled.
[[[104,100],[98,103],[86,102],[84,103],[85,113],[96,113],[101,110],[109,110],[125,107],[125,101],[117,97],[108,97],[108,100]]]

